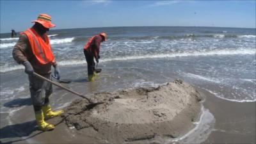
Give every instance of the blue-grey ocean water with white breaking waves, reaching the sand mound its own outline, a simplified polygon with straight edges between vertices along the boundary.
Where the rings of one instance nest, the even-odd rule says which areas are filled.
[[[88,83],[83,46],[91,36],[102,31],[109,36],[100,49],[99,67],[102,72],[94,83]],[[79,93],[157,86],[182,79],[219,99],[256,101],[256,29],[81,28],[51,30],[48,35],[60,65],[61,77],[73,80],[65,86]],[[10,38],[10,33],[1,34],[0,38],[0,114],[4,124],[15,124],[14,114],[31,106],[24,67],[12,58],[12,49],[18,39]],[[77,98],[68,92],[63,94],[63,90],[55,86],[53,94],[61,95],[52,97],[54,108],[68,106]],[[215,119],[208,109],[202,113],[203,120],[196,126],[201,128],[192,130],[177,141],[200,143],[207,139]],[[34,120],[33,116],[29,118]],[[196,138],[200,137],[196,141],[193,140],[193,131],[200,131],[196,133]]]

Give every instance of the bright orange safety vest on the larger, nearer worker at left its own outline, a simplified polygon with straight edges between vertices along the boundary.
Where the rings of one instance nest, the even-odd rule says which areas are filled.
[[[50,62],[55,62],[50,40],[46,34],[44,34],[44,41],[43,38],[33,28],[24,31],[21,34],[23,33],[28,36],[29,44],[31,45],[33,54],[41,64],[45,65]]]

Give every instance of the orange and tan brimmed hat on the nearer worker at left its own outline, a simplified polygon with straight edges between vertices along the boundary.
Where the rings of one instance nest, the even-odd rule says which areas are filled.
[[[33,20],[32,22],[38,22],[42,24],[45,28],[53,28],[56,25],[52,24],[52,17],[50,15],[47,15],[45,13],[41,13],[36,20]]]

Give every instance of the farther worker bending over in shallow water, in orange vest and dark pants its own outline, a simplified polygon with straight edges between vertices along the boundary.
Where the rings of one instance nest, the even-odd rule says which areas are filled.
[[[99,35],[92,36],[90,40],[84,45],[84,56],[87,62],[88,80],[94,81],[95,74],[95,62],[99,63],[100,59],[100,44],[107,40],[106,33],[99,33]]]

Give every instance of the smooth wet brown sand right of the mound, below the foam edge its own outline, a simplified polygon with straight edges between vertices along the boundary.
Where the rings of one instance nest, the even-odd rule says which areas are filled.
[[[216,119],[214,130],[204,143],[256,143],[256,102],[230,102],[205,90],[205,108]]]

